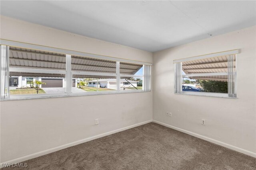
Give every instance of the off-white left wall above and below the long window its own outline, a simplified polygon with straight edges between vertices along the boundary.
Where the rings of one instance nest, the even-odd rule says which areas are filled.
[[[1,16],[0,26],[1,39],[152,63],[152,53],[42,25]],[[3,101],[0,162],[152,120],[150,106],[152,92]]]

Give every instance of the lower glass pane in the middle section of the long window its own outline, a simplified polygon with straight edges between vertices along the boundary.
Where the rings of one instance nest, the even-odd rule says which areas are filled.
[[[116,90],[115,76],[73,75],[72,92],[102,92]]]

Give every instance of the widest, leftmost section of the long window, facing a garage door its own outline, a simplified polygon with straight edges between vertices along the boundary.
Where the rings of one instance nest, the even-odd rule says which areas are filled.
[[[9,47],[9,92],[16,95],[65,93],[66,55]]]

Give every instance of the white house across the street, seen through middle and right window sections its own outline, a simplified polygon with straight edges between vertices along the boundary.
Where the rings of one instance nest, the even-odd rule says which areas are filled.
[[[128,80],[134,87],[137,87],[137,81]],[[120,79],[120,87],[133,87],[129,82],[125,79]],[[116,79],[109,78],[109,79],[98,79],[98,80],[91,80],[88,81],[88,87],[101,87],[101,88],[111,88],[116,89]]]

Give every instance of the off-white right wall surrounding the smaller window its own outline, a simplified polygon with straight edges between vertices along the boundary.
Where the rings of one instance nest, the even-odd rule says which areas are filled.
[[[255,153],[255,30],[249,27],[153,53],[153,119]],[[173,60],[232,49],[240,49],[237,99],[174,94]],[[166,111],[172,117],[166,117]],[[201,125],[202,118],[206,125]]]

